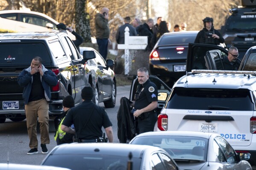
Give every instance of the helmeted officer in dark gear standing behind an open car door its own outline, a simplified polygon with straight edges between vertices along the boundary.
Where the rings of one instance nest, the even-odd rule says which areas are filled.
[[[205,44],[215,44],[220,45],[224,43],[224,38],[218,30],[213,28],[213,19],[206,17],[203,19],[204,28],[198,32],[194,43],[205,43]]]

